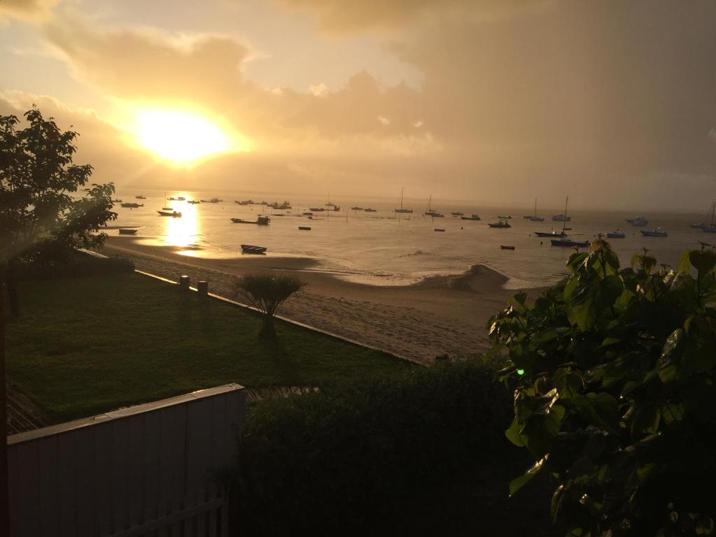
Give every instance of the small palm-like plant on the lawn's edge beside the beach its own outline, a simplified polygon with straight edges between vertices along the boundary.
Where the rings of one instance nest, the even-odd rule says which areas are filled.
[[[279,308],[306,282],[296,276],[274,276],[269,273],[247,274],[237,284],[237,291],[256,309],[263,313],[263,326],[258,336],[263,339],[276,338],[274,317]]]

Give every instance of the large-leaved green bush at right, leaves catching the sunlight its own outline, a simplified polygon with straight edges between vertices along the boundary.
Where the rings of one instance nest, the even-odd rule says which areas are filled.
[[[514,395],[506,435],[556,488],[551,514],[571,536],[707,535],[716,493],[716,253],[676,271],[632,268],[605,241],[532,305],[513,297],[490,321]],[[693,273],[693,274],[692,274]]]

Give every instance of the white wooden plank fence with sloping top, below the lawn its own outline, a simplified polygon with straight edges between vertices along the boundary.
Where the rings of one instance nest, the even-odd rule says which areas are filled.
[[[12,537],[226,536],[238,384],[8,437]]]

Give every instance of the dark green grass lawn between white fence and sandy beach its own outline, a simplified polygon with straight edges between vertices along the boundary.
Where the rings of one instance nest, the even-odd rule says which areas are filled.
[[[261,319],[137,274],[25,281],[21,318],[8,326],[9,382],[52,422],[238,382],[326,386],[417,367]]]

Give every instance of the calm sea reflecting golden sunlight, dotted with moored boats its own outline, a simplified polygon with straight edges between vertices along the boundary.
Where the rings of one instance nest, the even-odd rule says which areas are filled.
[[[146,200],[136,200],[135,195]],[[339,278],[376,285],[412,284],[425,276],[459,274],[475,263],[483,263],[505,276],[508,287],[543,286],[552,284],[566,271],[564,263],[571,253],[569,248],[551,246],[548,238],[536,238],[534,231],[561,230],[562,224],[551,216],[562,213],[563,208],[539,208],[538,216],[544,222],[525,220],[523,215],[531,208],[488,207],[479,203],[432,200],[432,208],[445,214],[445,218],[431,218],[423,213],[427,200],[405,199],[412,207],[412,215],[397,218],[393,209],[400,200],[387,198],[340,198],[330,201],[341,206],[337,212],[316,213],[309,220],[301,213],[310,207],[326,207],[324,199],[286,196],[291,202],[290,211],[272,211],[263,205],[238,205],[234,200],[266,200],[269,203],[284,198],[276,193],[256,192],[167,192],[169,197],[189,199],[222,198],[223,203],[191,205],[182,201],[164,201],[164,192],[153,190],[118,190],[115,198],[125,202],[144,203],[144,207],[128,209],[115,205],[119,218],[117,226],[139,226],[137,237],[142,243],[175,246],[187,256],[212,258],[241,257],[241,244],[266,246],[269,256],[297,256],[314,258],[320,262],[315,270],[327,271]],[[163,206],[173,207],[182,218],[158,216]],[[352,211],[352,206],[371,207],[375,213]],[[477,213],[482,220],[463,221],[450,212],[465,215]],[[263,213],[271,214],[270,226],[235,224],[230,218],[255,220]],[[284,216],[276,216],[283,214]],[[512,228],[495,229],[488,223],[497,221],[498,215],[511,215]],[[649,248],[659,263],[675,266],[679,254],[686,248],[696,248],[699,240],[716,241],[716,236],[703,233],[690,224],[705,221],[707,216],[675,213],[610,213],[585,212],[578,207],[569,208],[572,218],[567,227],[570,238],[585,241],[596,233],[619,228],[627,238],[613,239],[611,244],[626,266],[634,253]],[[643,215],[649,220],[645,228],[632,228],[625,218]],[[310,226],[311,231],[299,231],[299,226]],[[639,229],[662,228],[667,238],[643,237]],[[442,228],[445,231],[435,231]],[[116,230],[108,233],[117,234]],[[502,250],[500,245],[514,246]]]

